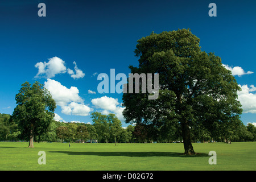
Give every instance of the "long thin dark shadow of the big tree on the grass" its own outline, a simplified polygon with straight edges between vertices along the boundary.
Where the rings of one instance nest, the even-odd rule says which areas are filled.
[[[68,155],[97,155],[97,156],[128,156],[128,157],[153,157],[153,156],[166,156],[166,157],[181,157],[181,158],[198,158],[206,157],[209,155],[199,153],[196,155],[184,155],[178,152],[74,152],[74,151],[49,151],[53,153],[62,153]]]

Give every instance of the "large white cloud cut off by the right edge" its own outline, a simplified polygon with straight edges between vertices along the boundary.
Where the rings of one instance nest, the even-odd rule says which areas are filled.
[[[243,109],[243,113],[256,113],[256,91],[254,85],[239,85],[242,90],[237,92],[238,100],[240,101]]]

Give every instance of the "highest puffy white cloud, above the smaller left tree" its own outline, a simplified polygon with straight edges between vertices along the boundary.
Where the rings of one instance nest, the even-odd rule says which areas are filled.
[[[39,62],[35,64],[35,67],[38,68],[38,74],[36,74],[35,76],[36,78],[52,78],[55,77],[55,75],[57,74],[67,72],[65,67],[65,61],[61,60],[59,57],[52,57],[48,60],[48,63],[44,61],[44,63]]]

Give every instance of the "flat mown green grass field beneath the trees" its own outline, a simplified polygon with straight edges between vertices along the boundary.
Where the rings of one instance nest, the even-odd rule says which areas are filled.
[[[183,143],[28,143],[0,142],[0,170],[255,170],[256,142],[193,143],[198,155],[183,155]],[[46,164],[38,164],[39,151]],[[210,165],[209,151],[217,164]]]

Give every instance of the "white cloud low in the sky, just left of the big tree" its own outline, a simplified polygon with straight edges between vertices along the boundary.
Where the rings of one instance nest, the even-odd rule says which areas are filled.
[[[106,96],[94,98],[92,100],[92,104],[96,106],[96,108],[102,109],[102,114],[114,113],[118,117],[118,119],[124,121],[122,112],[125,109],[125,107],[120,106],[121,104],[119,104],[117,98],[115,99]]]

